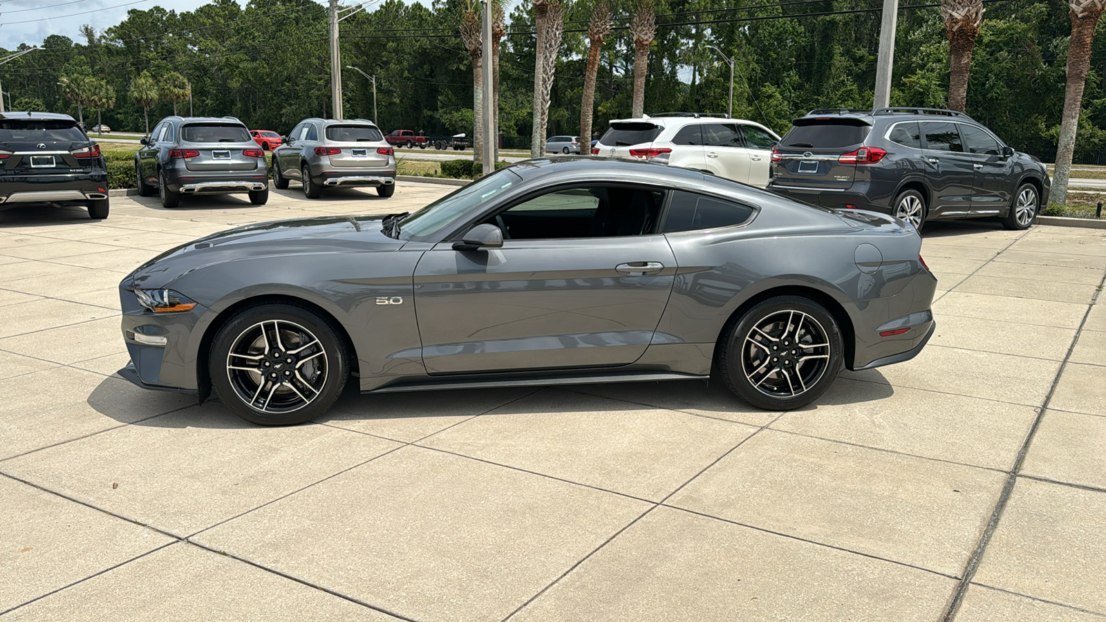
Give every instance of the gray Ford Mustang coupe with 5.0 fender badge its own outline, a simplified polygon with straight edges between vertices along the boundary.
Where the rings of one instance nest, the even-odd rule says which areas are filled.
[[[906,361],[937,279],[904,221],[692,170],[535,159],[415,214],[281,220],[119,284],[121,374],[288,425],[365,393],[705,380],[768,410]]]

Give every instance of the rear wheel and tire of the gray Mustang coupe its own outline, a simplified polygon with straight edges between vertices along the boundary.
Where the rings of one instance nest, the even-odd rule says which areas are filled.
[[[810,345],[796,348],[796,336],[797,343]],[[841,372],[844,352],[837,321],[824,307],[801,296],[780,296],[727,324],[718,367],[738,397],[765,411],[791,411],[825,393]]]

